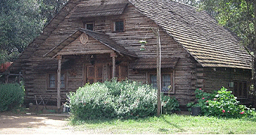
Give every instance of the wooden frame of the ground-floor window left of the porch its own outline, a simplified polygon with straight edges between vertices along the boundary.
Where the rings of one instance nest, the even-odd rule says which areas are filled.
[[[65,87],[61,87],[60,89],[66,89],[67,88],[67,74],[66,74],[66,72],[62,72],[61,75],[62,74],[64,75],[63,82],[64,82]],[[54,87],[50,87],[50,75],[55,76]],[[62,81],[62,80],[60,80],[60,81]],[[57,89],[57,83],[58,83],[58,81],[57,81],[57,73],[54,73],[54,72],[47,73],[47,89],[48,90]]]

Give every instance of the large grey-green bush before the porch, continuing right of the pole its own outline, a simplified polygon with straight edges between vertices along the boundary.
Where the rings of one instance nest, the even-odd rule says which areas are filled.
[[[71,113],[79,119],[138,118],[157,113],[157,91],[129,80],[87,84],[68,97]],[[178,110],[177,107],[175,98],[166,98],[163,104],[165,113]]]

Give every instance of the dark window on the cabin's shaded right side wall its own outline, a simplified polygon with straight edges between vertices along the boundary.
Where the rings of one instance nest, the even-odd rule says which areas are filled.
[[[233,95],[235,95],[237,98],[247,98],[247,82],[234,81],[233,87]]]

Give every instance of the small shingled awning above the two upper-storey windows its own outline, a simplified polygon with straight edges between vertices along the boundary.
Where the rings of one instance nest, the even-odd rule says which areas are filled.
[[[100,16],[114,16],[123,13],[127,3],[115,5],[96,5],[90,7],[76,7],[75,12],[70,18],[75,17],[100,17]]]

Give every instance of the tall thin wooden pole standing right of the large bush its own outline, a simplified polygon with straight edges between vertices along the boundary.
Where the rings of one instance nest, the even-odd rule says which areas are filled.
[[[154,28],[151,28],[154,34],[157,35],[157,116],[160,115],[162,110],[161,105],[161,44],[160,44],[160,34],[159,29],[157,28],[154,31]]]

